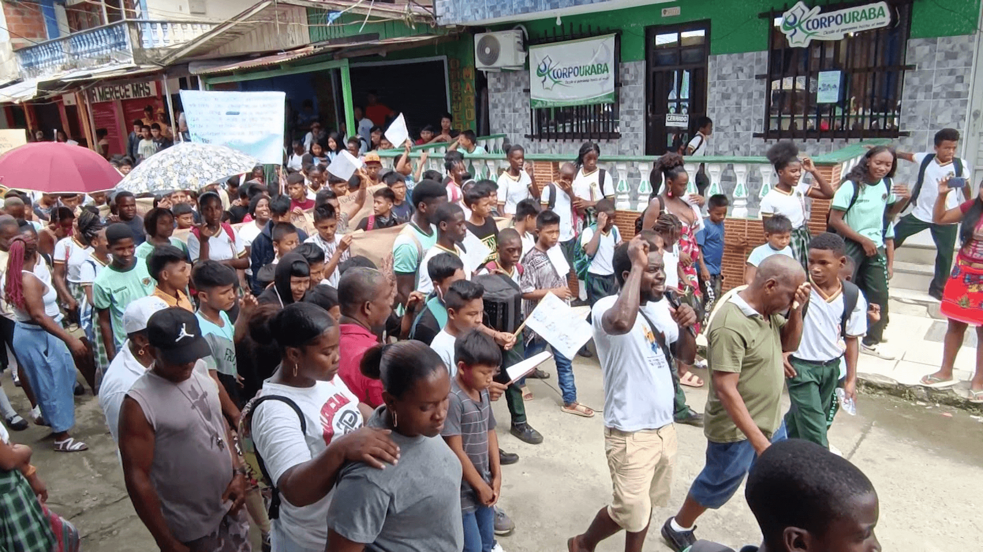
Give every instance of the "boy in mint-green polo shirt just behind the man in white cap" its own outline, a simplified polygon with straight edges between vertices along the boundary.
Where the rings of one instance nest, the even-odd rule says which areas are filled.
[[[134,234],[129,225],[110,224],[106,228],[106,242],[112,260],[92,283],[92,304],[99,317],[99,333],[106,357],[112,360],[127,339],[123,311],[132,301],[152,294],[156,282],[147,272],[146,263],[138,262]]]

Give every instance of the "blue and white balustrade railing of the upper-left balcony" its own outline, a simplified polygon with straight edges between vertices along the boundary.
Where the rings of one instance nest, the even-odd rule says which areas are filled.
[[[49,79],[80,70],[152,63],[168,49],[216,25],[127,20],[32,44],[16,53],[25,79]]]

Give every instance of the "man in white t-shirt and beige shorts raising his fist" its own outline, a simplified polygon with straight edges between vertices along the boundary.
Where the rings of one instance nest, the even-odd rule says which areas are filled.
[[[594,305],[594,342],[605,384],[605,452],[613,483],[611,504],[602,508],[586,532],[574,536],[571,550],[594,550],[620,529],[627,543],[644,540],[652,509],[665,506],[672,482],[676,435],[667,339],[644,306],[665,293],[662,254],[641,236],[614,252],[621,293]],[[696,339],[688,327],[696,313],[683,304],[672,313],[677,358],[692,362]]]

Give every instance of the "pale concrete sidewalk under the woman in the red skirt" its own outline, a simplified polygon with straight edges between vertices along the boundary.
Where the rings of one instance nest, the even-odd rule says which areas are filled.
[[[939,317],[937,307],[923,302],[896,298],[891,300],[889,308],[891,321],[885,330],[887,342],[884,347],[895,359],[860,355],[857,366],[860,381],[901,397],[979,410],[981,405],[968,401],[969,379],[976,367],[974,329],[966,330],[962,348],[955,359],[954,377],[958,383],[946,389],[931,389],[919,381],[922,376],[938,371],[942,364],[948,321]]]

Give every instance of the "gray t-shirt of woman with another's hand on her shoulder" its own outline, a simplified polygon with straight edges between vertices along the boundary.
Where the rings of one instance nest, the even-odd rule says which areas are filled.
[[[385,406],[366,425],[391,428]],[[440,437],[389,435],[397,466],[352,463],[341,469],[327,527],[371,552],[460,552],[461,463]]]

